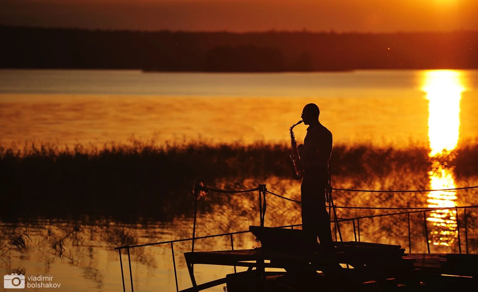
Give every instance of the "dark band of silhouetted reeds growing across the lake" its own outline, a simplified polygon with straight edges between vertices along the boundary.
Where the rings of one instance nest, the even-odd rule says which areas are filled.
[[[478,146],[465,145],[457,153],[449,162],[455,173],[477,174]],[[203,142],[158,146],[133,140],[127,144],[109,142],[102,147],[78,144],[73,149],[51,144],[28,144],[21,150],[0,147],[0,192],[11,198],[11,203],[1,205],[0,214],[151,216],[169,220],[175,215],[171,210],[192,214],[191,190],[197,180],[214,187],[228,180],[290,179],[285,162],[289,154],[290,146],[285,143],[260,142],[250,146]],[[428,150],[419,147],[401,150],[335,145],[331,160],[333,175],[368,182],[372,177],[397,173],[422,173],[426,177],[430,165]]]

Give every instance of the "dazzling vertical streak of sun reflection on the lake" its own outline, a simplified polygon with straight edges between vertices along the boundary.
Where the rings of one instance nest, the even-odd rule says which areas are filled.
[[[428,153],[432,169],[428,172],[431,189],[456,188],[454,167],[460,127],[460,99],[465,91],[460,73],[453,70],[425,71],[424,86],[428,104]],[[435,246],[453,246],[456,242],[455,191],[434,191],[428,194],[428,207],[445,208],[431,212],[433,222],[429,242]]]

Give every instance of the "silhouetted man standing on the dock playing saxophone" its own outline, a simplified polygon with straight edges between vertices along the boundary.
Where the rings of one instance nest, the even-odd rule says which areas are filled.
[[[328,163],[332,153],[332,133],[319,122],[320,110],[313,103],[302,110],[302,120],[307,128],[304,145],[299,145],[304,177],[302,193],[302,229],[304,248],[315,250],[317,236],[320,245],[332,248],[330,217],[326,209],[326,189],[328,188]]]

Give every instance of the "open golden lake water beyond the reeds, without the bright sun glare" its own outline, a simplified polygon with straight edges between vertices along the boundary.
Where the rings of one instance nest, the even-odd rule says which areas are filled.
[[[459,71],[460,139],[474,139],[477,70]],[[75,145],[127,141],[288,143],[314,102],[334,143],[404,147],[428,141],[426,71],[203,74],[0,71],[0,139]],[[305,127],[295,130],[297,140]]]

